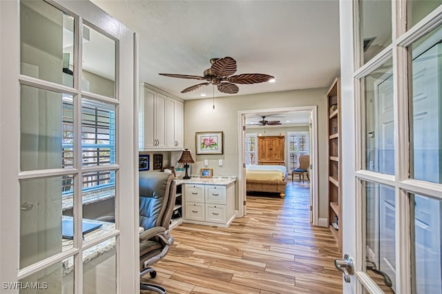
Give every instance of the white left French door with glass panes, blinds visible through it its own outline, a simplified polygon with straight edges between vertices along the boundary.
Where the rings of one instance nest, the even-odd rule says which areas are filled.
[[[0,13],[0,292],[135,293],[135,36],[89,1]]]

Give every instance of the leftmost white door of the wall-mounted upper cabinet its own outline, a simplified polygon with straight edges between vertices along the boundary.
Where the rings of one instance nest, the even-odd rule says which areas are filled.
[[[143,111],[143,135],[144,135],[144,149],[151,149],[155,147],[155,92],[144,89],[144,107]]]

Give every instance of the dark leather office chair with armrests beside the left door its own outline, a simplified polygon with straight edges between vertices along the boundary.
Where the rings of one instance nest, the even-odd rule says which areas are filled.
[[[175,204],[176,185],[169,173],[140,172],[140,277],[157,272],[151,267],[169,252],[173,237],[169,224]],[[161,286],[140,282],[141,290],[166,293]]]

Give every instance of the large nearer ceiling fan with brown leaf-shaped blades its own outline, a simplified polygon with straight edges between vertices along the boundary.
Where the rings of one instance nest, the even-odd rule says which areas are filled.
[[[210,59],[210,62],[212,63],[211,67],[204,70],[202,77],[198,75],[175,75],[165,73],[160,73],[159,75],[164,75],[165,77],[177,77],[181,79],[206,80],[205,83],[185,88],[181,91],[182,93],[199,90],[205,86],[213,84],[213,86],[217,86],[220,92],[236,94],[238,93],[239,88],[235,84],[257,84],[274,79],[274,77],[271,75],[260,73],[233,75],[236,72],[236,60],[232,57],[212,58]]]

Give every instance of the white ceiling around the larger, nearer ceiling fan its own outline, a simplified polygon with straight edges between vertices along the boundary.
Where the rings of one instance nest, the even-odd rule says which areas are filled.
[[[202,75],[213,57],[236,59],[236,74],[276,78],[238,85],[237,95],[328,87],[339,75],[338,0],[92,1],[138,33],[140,82],[184,100],[213,88],[182,94],[202,81],[158,73]]]

